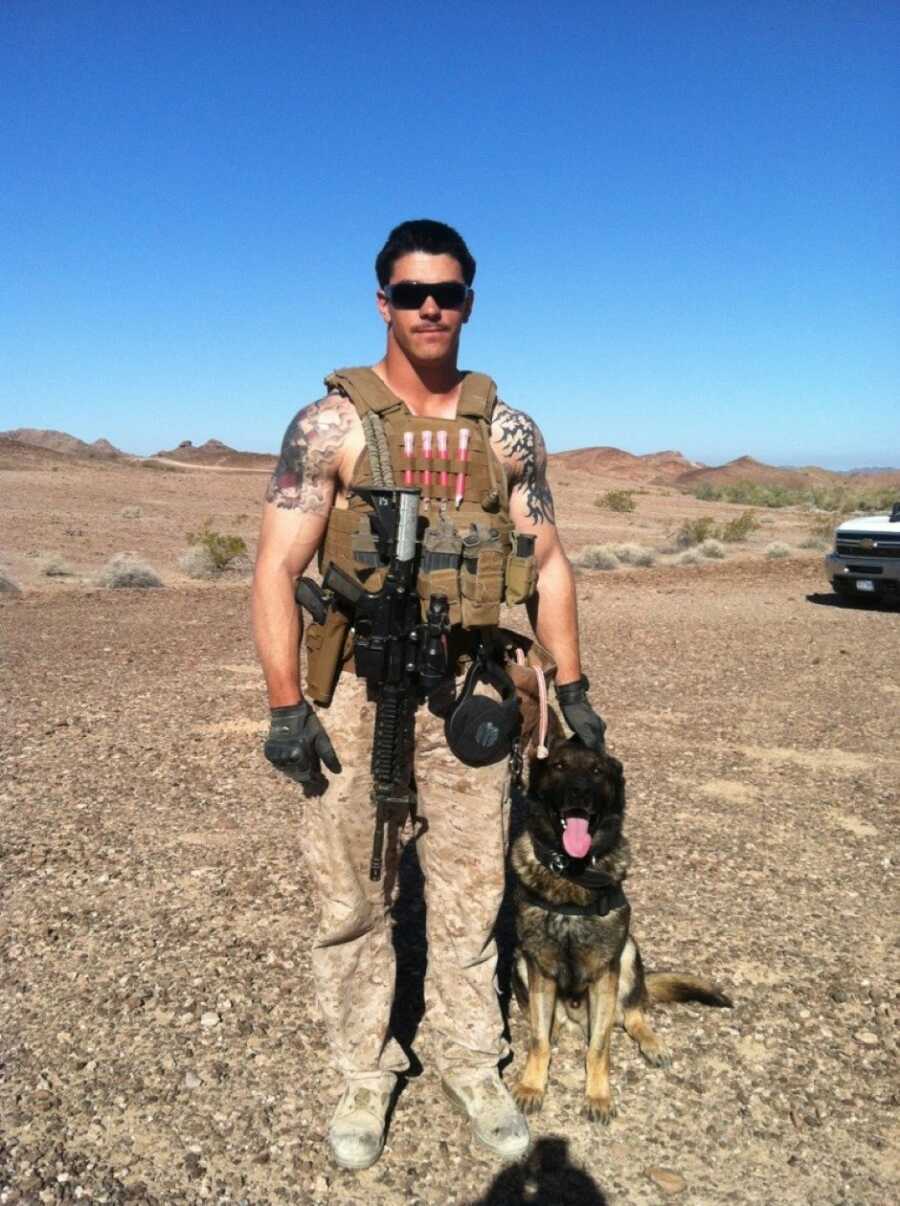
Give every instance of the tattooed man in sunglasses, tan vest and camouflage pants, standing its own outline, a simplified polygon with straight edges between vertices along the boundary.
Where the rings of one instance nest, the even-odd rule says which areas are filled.
[[[305,691],[300,684],[304,619],[294,590],[314,555],[326,578],[337,567],[341,580],[352,578],[367,591],[384,580],[370,498],[356,487],[421,488],[419,593],[423,610],[436,595],[448,601],[457,673],[498,624],[501,604],[525,602],[556,665],[563,715],[584,742],[603,742],[582,674],[574,579],[555,526],[543,438],[527,415],[497,398],[490,377],[457,368],[475,262],[455,230],[422,219],[391,232],[375,271],[385,357],[331,374],[326,396],[290,423],[265,494],[253,580],[253,627],[271,708],[265,755],[305,796],[298,844],[320,913],[312,974],[343,1090],[328,1141],[338,1164],[350,1169],[380,1155],[397,1075],[408,1066],[388,1028],[388,915],[399,849],[414,832],[409,816],[386,818],[384,870],[370,878],[376,703],[353,673],[352,619],[337,608],[305,625]],[[452,696],[452,678],[448,689]],[[444,709],[433,696],[414,726],[410,781],[426,879],[436,1062],[474,1137],[512,1159],[526,1151],[528,1130],[497,1070],[508,1053],[493,941],[504,886],[507,766],[463,766],[448,747]]]

